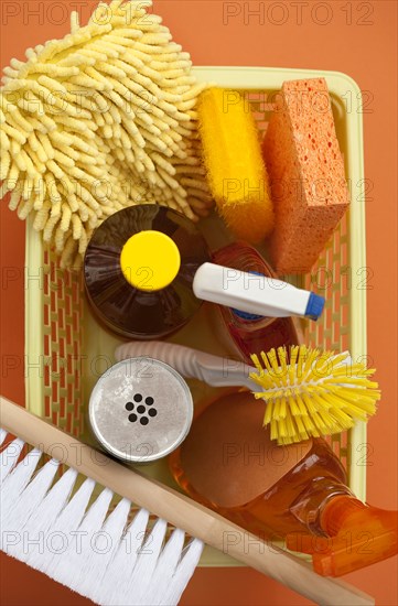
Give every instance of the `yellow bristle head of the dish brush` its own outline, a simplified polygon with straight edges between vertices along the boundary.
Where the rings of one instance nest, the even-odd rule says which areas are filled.
[[[344,364],[345,354],[301,345],[290,347],[289,356],[279,347],[260,358],[251,356],[250,378],[261,388],[255,397],[267,403],[263,425],[279,444],[340,433],[376,412],[380,391],[369,380],[375,370]]]

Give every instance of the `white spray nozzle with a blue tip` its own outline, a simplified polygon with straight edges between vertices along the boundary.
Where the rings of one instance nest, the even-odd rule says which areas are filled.
[[[198,268],[193,291],[204,301],[268,317],[294,315],[318,320],[325,302],[323,296],[288,282],[215,263],[203,263]]]

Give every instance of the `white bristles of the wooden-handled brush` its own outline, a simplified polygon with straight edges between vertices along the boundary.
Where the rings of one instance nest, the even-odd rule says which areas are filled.
[[[0,444],[6,437],[0,429]],[[202,541],[185,545],[180,529],[168,539],[166,521],[158,519],[150,528],[149,512],[136,512],[127,499],[114,508],[108,488],[90,502],[93,479],[75,490],[75,469],[54,480],[58,462],[37,470],[42,453],[34,448],[23,457],[23,447],[17,439],[0,454],[1,550],[97,604],[178,604]]]

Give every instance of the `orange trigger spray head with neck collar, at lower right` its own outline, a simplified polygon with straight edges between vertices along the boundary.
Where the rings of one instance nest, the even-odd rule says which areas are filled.
[[[364,505],[326,478],[311,485],[311,494],[306,486],[294,506],[304,532],[288,535],[287,547],[311,554],[315,572],[341,576],[398,553],[397,511]]]

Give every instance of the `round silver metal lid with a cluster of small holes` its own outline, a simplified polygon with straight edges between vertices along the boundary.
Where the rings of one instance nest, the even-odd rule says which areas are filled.
[[[192,396],[184,379],[153,358],[122,360],[97,381],[89,421],[103,447],[132,463],[157,461],[190,431]]]

